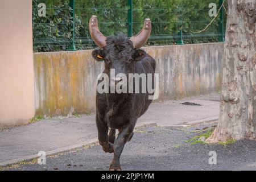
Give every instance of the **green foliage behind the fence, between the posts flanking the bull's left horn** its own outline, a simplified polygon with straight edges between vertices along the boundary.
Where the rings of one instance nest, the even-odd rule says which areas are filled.
[[[88,22],[92,15],[97,15],[99,28],[105,36],[123,32],[127,34],[127,0],[76,0],[76,15],[82,20],[79,49],[96,47],[90,39]]]

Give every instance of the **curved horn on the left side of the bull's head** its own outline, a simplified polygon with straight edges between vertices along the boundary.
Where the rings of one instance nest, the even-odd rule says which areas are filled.
[[[90,36],[92,36],[93,41],[98,47],[103,48],[106,46],[106,37],[98,29],[98,19],[97,16],[92,15],[89,22]]]

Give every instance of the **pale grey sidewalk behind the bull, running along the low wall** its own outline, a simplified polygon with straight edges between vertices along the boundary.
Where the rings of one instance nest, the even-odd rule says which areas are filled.
[[[197,105],[183,105],[192,102]],[[138,125],[154,122],[158,126],[191,124],[218,118],[219,96],[153,103],[139,118]],[[0,166],[37,156],[39,151],[53,154],[97,140],[95,115],[64,119],[43,119],[26,126],[0,130]]]

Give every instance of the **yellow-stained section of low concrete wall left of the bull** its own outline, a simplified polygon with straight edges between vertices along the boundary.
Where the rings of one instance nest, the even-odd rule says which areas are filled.
[[[96,77],[96,70],[92,68],[96,61],[92,63],[91,52],[42,53],[34,55],[34,63],[39,93],[36,114],[54,116],[67,115],[73,110],[77,113],[95,110],[96,90],[92,88],[96,83],[92,78]]]

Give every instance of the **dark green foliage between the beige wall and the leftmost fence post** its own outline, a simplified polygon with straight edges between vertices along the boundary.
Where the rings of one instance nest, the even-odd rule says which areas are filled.
[[[46,3],[46,17],[38,16],[38,4]],[[59,1],[56,1],[59,2]],[[35,52],[67,50],[72,43],[73,17],[67,1],[52,5],[52,1],[33,0],[32,27]],[[75,18],[76,36],[80,37],[81,20]],[[80,42],[81,43],[81,42]],[[80,46],[79,42],[77,42]],[[42,46],[43,45],[43,46]]]

